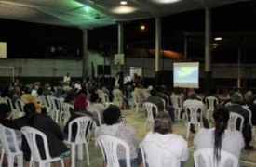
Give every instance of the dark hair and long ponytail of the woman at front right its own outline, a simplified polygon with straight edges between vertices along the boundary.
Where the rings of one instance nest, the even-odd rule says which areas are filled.
[[[213,123],[215,124],[214,157],[218,163],[221,159],[222,136],[224,135],[229,120],[229,110],[224,106],[217,107],[214,109],[212,117]]]

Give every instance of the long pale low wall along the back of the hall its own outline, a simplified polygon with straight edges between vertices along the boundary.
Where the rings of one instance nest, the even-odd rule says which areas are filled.
[[[114,77],[118,70],[117,65],[114,64],[113,57],[102,57],[98,53],[89,52],[88,54],[88,71],[89,77],[92,76],[91,63],[93,63],[95,70],[95,77],[97,75],[98,65],[111,65],[111,76]],[[105,63],[104,63],[105,62]],[[159,64],[159,71],[172,70],[174,60],[164,59]],[[177,62],[177,61],[176,61]],[[70,72],[73,77],[82,77],[82,60],[59,60],[59,59],[10,59],[0,58],[0,76],[10,76],[10,70],[2,69],[1,67],[14,67],[14,75],[20,77],[62,77],[66,72]],[[143,76],[146,78],[155,77],[155,59],[154,58],[126,58],[122,70],[126,73],[129,67],[141,67]],[[162,68],[163,67],[163,68]],[[247,78],[256,78],[256,66],[254,64],[241,65],[240,68],[236,64],[212,64],[213,78],[237,78],[238,69],[240,69],[241,77],[244,73]],[[245,71],[246,70],[246,71]],[[200,63],[200,78],[204,78],[204,64]]]

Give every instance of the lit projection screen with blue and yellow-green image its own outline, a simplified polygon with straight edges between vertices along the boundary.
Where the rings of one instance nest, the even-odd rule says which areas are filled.
[[[183,88],[198,88],[199,63],[174,63],[173,85]]]

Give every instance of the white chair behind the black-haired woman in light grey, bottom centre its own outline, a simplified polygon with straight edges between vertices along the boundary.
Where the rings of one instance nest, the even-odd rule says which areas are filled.
[[[117,157],[119,147],[125,148],[127,167],[130,167],[130,151],[125,141],[113,135],[100,135],[97,137],[97,142],[107,167],[121,167]]]

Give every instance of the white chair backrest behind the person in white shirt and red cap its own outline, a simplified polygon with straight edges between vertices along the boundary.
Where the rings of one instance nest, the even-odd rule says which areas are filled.
[[[191,123],[202,122],[204,109],[199,106],[187,106],[185,107],[186,119]]]

